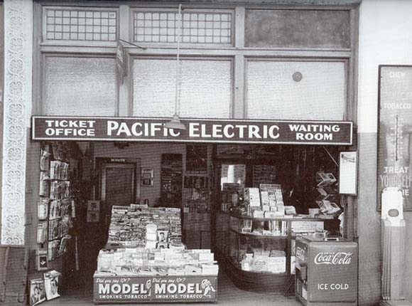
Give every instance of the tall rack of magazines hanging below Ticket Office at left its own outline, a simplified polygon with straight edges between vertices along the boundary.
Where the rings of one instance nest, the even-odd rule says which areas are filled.
[[[60,142],[42,144],[40,149],[37,243],[48,250],[48,260],[66,253],[76,217],[73,181],[78,172],[72,155],[70,145]]]

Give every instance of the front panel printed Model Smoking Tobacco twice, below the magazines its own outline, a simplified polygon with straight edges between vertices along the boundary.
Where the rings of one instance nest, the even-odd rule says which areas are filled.
[[[93,301],[102,303],[217,302],[217,275],[94,275]]]

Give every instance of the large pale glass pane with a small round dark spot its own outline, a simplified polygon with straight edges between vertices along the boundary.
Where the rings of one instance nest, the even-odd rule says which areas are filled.
[[[293,80],[293,74],[301,80]],[[343,120],[345,63],[247,63],[247,115],[254,119]]]

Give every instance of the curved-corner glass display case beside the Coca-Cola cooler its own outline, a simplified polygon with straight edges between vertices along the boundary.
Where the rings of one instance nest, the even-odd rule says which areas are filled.
[[[215,252],[237,287],[284,292],[295,274],[298,235],[323,231],[324,219],[253,218],[219,211]]]

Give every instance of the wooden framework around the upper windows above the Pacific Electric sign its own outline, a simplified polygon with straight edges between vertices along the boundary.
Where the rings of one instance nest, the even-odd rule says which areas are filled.
[[[98,2],[65,2],[65,1],[35,1],[35,17],[34,19],[34,44],[36,49],[34,53],[35,73],[33,73],[33,114],[41,115],[44,107],[42,100],[44,95],[43,85],[43,56],[50,54],[65,53],[72,56],[116,56],[116,44],[112,45],[105,43],[97,43],[93,41],[83,41],[81,43],[76,41],[60,41],[58,43],[51,43],[42,41],[43,28],[42,19],[43,8],[57,7],[63,9],[116,9],[119,13],[118,21],[118,38],[126,41],[133,41],[133,16],[136,10],[146,9],[147,11],[170,11],[177,10],[177,5],[162,4],[160,2],[145,2],[139,3],[137,1],[131,2],[106,2],[99,4]],[[188,6],[188,7],[186,7]],[[217,8],[218,6],[218,8]],[[193,1],[185,4],[183,7],[187,11],[217,11],[227,12],[232,11],[232,46],[220,46],[219,44],[212,46],[200,46],[200,43],[182,43],[180,48],[180,55],[182,57],[227,57],[232,58],[232,110],[231,118],[246,119],[246,61],[249,58],[275,58],[282,60],[282,58],[293,58],[295,60],[345,60],[347,65],[347,82],[345,83],[345,120],[352,120],[357,122],[357,37],[359,25],[359,5],[357,4],[315,4],[315,5],[279,5],[279,4],[205,4],[202,1]],[[350,33],[350,48],[345,50],[328,49],[328,48],[246,48],[244,46],[245,36],[245,15],[246,10],[251,9],[286,9],[286,10],[346,10],[349,11],[349,33]],[[129,116],[131,115],[131,103],[133,96],[131,95],[131,82],[129,80],[131,71],[131,60],[134,56],[154,56],[154,57],[173,57],[176,56],[176,43],[137,43],[145,49],[136,48],[124,43],[124,51],[126,58],[126,77],[124,84],[119,85],[116,89],[115,101],[115,116]],[[273,118],[273,120],[276,118]]]

